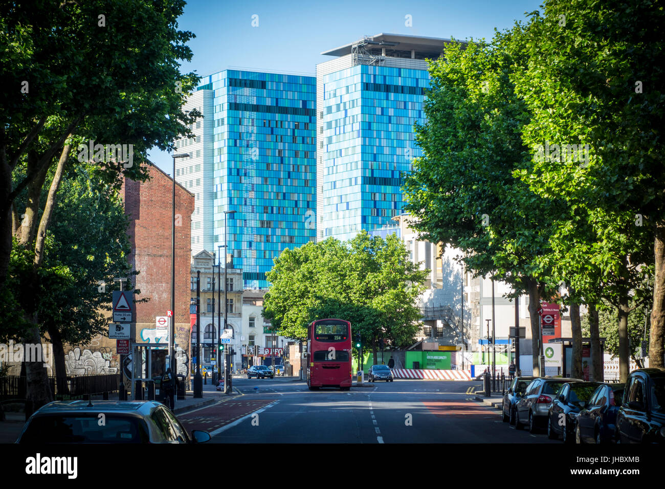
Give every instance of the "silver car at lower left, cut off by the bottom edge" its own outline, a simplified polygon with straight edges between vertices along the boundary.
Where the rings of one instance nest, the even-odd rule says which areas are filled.
[[[99,414],[104,414],[100,424]],[[54,401],[33,413],[17,443],[194,443],[178,418],[157,401]]]

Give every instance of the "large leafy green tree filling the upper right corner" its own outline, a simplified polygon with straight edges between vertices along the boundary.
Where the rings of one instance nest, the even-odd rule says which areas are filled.
[[[593,266],[571,267],[578,281],[611,278],[604,294],[580,288],[587,296],[612,293],[619,314],[621,379],[628,375],[627,323],[631,290],[641,293],[640,276],[654,260],[656,286],[651,351],[662,366],[665,324],[665,238],[662,188],[662,7],[649,0],[606,3],[549,0],[544,13],[531,14],[525,29],[525,54],[513,80],[533,114],[523,140],[533,153],[519,177],[543,198],[559,196],[579,209],[590,228],[585,239],[563,240],[571,257]],[[642,89],[642,86],[648,87]],[[557,145],[555,148],[554,145]],[[553,148],[551,154],[547,149]],[[577,147],[577,148],[576,148]],[[577,228],[575,222],[570,222]],[[617,226],[616,224],[620,224]],[[577,230],[573,230],[575,234]],[[606,242],[604,240],[607,240]],[[575,249],[577,247],[577,250]],[[594,247],[596,254],[587,250]],[[570,262],[571,260],[569,260]],[[613,275],[613,277],[608,277]]]

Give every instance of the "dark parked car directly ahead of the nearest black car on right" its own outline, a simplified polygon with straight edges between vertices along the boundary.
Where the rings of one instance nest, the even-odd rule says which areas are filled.
[[[607,443],[614,438],[616,415],[625,384],[601,384],[587,406],[577,415],[575,442]]]

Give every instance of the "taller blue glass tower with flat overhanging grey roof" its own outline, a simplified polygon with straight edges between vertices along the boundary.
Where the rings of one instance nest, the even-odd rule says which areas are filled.
[[[317,238],[348,240],[402,214],[400,186],[421,156],[426,59],[449,39],[380,34],[323,55],[317,65]]]

